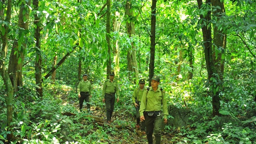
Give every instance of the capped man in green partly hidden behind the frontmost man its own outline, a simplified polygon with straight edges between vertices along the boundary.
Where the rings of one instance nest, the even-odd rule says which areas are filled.
[[[140,128],[140,102],[141,102],[141,98],[143,95],[144,90],[146,90],[145,88],[145,80],[144,79],[140,79],[139,81],[139,87],[135,88],[132,94],[132,104],[134,104],[135,108],[136,108],[136,128]],[[145,130],[145,122],[142,122],[142,127],[141,130]]]

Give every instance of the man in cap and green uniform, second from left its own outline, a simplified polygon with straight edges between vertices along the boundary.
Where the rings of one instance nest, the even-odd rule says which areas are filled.
[[[119,86],[114,81],[114,77],[114,72],[110,72],[109,79],[104,82],[102,90],[102,102],[106,104],[106,116],[109,124],[112,122],[111,117],[114,111],[115,94],[117,96],[116,102],[119,101]]]

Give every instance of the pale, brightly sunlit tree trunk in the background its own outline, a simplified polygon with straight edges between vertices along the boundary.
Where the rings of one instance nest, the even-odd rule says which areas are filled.
[[[121,20],[120,20],[120,12],[116,11],[115,18],[113,20],[113,29],[114,32],[118,32],[120,30]],[[115,72],[117,73],[117,76],[119,77],[119,71],[120,71],[120,65],[119,65],[119,59],[120,59],[120,50],[119,50],[119,44],[118,40],[114,41],[114,47],[113,47],[113,54],[114,54],[114,64],[115,64]]]

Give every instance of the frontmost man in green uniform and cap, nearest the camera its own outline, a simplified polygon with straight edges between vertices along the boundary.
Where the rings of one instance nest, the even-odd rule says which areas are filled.
[[[158,87],[160,78],[153,76],[151,79],[151,87],[144,91],[140,103],[140,120],[145,121],[146,135],[148,144],[153,144],[153,132],[156,144],[161,143],[162,117],[164,115],[164,123],[167,123],[167,103],[164,99],[162,88]]]

